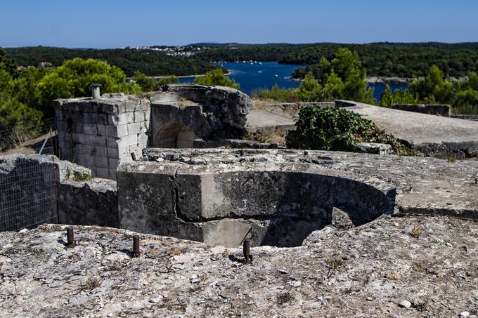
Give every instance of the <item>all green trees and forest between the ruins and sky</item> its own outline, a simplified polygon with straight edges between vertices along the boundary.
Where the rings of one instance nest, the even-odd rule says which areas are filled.
[[[153,91],[163,84],[178,83],[176,75],[205,73],[205,76],[196,79],[197,84],[238,88],[238,84],[224,76],[224,69],[218,69],[206,61],[209,58],[226,60],[225,55],[221,55],[223,51],[243,53],[241,58],[248,59],[248,56],[254,60],[269,60],[272,55],[276,58],[281,55],[280,60],[283,62],[300,62],[291,57],[306,59],[308,56],[310,60],[307,61],[315,63],[298,71],[304,75],[304,81],[299,88],[281,89],[276,86],[257,91],[257,98],[281,102],[347,99],[377,104],[366,78],[377,75],[373,69],[378,69],[379,65],[375,61],[375,66],[372,66],[370,71],[367,63],[370,63],[371,59],[367,60],[363,55],[368,54],[370,57],[380,53],[385,60],[395,59],[410,64],[408,67],[411,69],[408,69],[406,74],[413,76],[407,91],[392,93],[387,87],[382,94],[380,106],[389,107],[393,103],[442,103],[451,105],[456,114],[478,114],[478,44],[430,44],[429,47],[427,44],[416,45],[420,49],[415,53],[411,50],[411,44],[380,44],[379,46],[383,46],[382,50],[377,50],[375,44],[368,49],[366,46],[356,46],[358,49],[354,51],[337,44],[312,47],[290,44],[250,45],[238,46],[235,49],[218,45],[194,58],[175,58],[162,53],[148,54],[148,51],[129,49],[0,48],[0,131],[34,136],[39,132],[42,119],[53,117],[52,100],[87,96],[90,94],[89,86],[93,82],[102,85],[103,93],[141,93]],[[392,47],[396,48],[396,51],[392,50]],[[332,48],[335,51],[329,53],[328,50]],[[427,50],[441,53],[425,54]],[[253,58],[252,54],[257,55]],[[403,58],[406,54],[415,54],[416,62]],[[18,68],[18,65],[38,65],[44,61],[52,62],[54,66]],[[385,65],[388,65],[387,63],[385,62]],[[403,66],[394,63],[390,63],[392,69]],[[172,76],[156,81],[148,77],[149,74]],[[135,82],[127,83],[127,76],[133,77]],[[451,81],[449,78],[452,76],[466,76],[466,79]],[[11,143],[8,140],[1,142],[7,145],[0,145],[0,148],[8,147]]]

